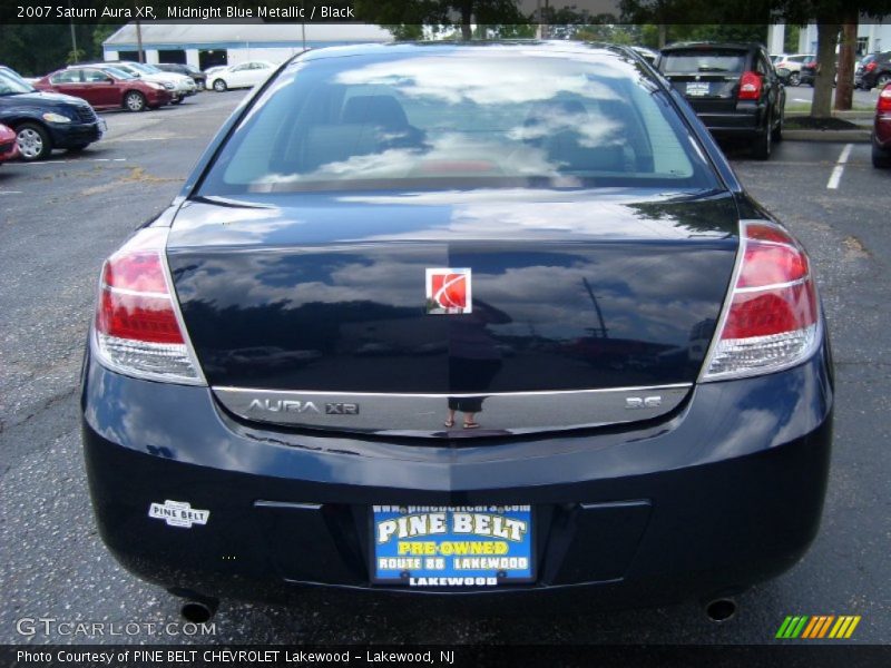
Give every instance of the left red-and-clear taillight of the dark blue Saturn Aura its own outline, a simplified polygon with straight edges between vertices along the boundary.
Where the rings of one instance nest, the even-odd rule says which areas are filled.
[[[140,229],[102,267],[96,353],[138,377],[203,384],[173,298],[164,257],[167,228]]]

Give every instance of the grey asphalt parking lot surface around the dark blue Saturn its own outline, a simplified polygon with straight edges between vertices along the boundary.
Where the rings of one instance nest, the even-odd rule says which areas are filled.
[[[779,145],[770,163],[732,159],[814,262],[835,354],[833,465],[811,551],[740,597],[731,622],[709,622],[694,603],[569,617],[470,606],[407,615],[313,596],[295,608],[223,601],[215,635],[204,637],[20,633],[22,618],[118,628],[178,620],[179,602],[125,572],[97,537],[78,373],[102,259],[177,194],[242,97],[206,92],[177,108],[105,114],[108,135],[82,154],[0,167],[0,642],[763,644],[786,615],[860,615],[852,642],[891,639],[891,174],[872,168],[869,145],[799,141]]]

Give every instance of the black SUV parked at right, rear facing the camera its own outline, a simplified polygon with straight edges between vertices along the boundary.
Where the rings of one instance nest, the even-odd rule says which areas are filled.
[[[764,47],[676,43],[662,50],[656,67],[716,139],[750,139],[754,157],[771,157],[782,139],[786,94]]]

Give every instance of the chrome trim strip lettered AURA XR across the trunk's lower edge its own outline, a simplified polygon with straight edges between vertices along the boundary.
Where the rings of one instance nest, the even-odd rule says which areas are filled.
[[[565,431],[639,422],[674,411],[692,383],[493,394],[385,394],[212,387],[231,413],[251,422],[386,436],[458,439]],[[479,397],[479,429],[447,428],[449,399]]]

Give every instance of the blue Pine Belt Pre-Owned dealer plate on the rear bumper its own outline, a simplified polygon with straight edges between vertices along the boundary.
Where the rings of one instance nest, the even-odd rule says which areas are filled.
[[[374,505],[376,583],[497,587],[535,580],[530,505]]]

